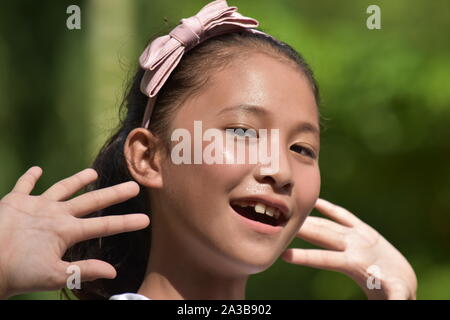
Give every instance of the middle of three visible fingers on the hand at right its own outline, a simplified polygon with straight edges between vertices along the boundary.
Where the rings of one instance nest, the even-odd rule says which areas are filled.
[[[308,216],[297,236],[317,246],[344,251],[345,227],[328,219]]]

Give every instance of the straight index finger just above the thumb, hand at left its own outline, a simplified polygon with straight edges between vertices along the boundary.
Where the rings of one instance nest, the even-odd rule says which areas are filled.
[[[82,232],[74,240],[75,242],[144,229],[150,223],[149,217],[142,213],[80,219],[79,221]]]

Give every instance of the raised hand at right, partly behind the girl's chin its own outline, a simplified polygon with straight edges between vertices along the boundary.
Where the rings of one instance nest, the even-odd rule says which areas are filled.
[[[416,299],[414,270],[394,246],[342,207],[318,199],[316,209],[334,221],[308,216],[297,236],[328,250],[291,248],[282,254],[283,260],[342,272],[369,299]]]

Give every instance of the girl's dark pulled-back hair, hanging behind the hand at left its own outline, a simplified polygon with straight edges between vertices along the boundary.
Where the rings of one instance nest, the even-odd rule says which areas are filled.
[[[210,38],[188,51],[158,94],[149,130],[160,137],[166,151],[170,145],[170,123],[177,107],[195,94],[221,68],[245,54],[264,53],[299,68],[308,79],[317,105],[319,90],[313,73],[302,56],[289,45],[271,37],[248,31],[228,33]],[[121,123],[108,139],[93,163],[98,179],[87,190],[101,189],[134,180],[124,157],[125,140],[134,128],[140,127],[148,100],[140,91],[144,70],[138,68],[120,108]],[[123,117],[124,116],[124,117]],[[87,216],[97,217],[134,212],[149,212],[145,187],[140,194],[124,203],[99,210]],[[71,247],[65,254],[67,261],[100,259],[113,265],[117,277],[84,282],[82,289],[72,292],[80,299],[108,299],[111,295],[137,292],[144,280],[149,257],[151,228],[92,239]],[[67,292],[63,291],[67,297]]]

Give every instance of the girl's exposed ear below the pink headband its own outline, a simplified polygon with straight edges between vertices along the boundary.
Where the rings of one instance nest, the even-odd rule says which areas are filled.
[[[163,150],[160,147],[160,140],[147,129],[136,128],[128,134],[124,146],[125,160],[128,170],[139,184],[150,188],[163,186]]]

